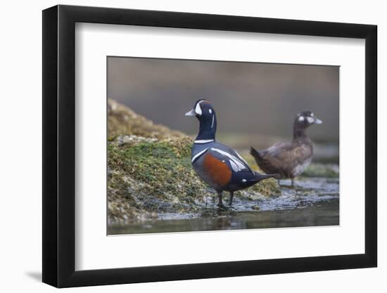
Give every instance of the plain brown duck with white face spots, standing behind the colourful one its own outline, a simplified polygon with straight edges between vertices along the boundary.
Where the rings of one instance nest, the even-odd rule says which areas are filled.
[[[313,157],[312,141],[306,129],[312,124],[322,124],[310,111],[300,112],[293,124],[293,141],[275,143],[266,150],[250,149],[262,171],[279,174],[280,178],[293,178],[303,173]]]

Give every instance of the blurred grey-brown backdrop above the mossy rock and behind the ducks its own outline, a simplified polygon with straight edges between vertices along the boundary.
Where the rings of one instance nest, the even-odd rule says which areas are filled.
[[[337,66],[108,57],[108,98],[193,137],[198,122],[184,113],[205,98],[217,140],[239,150],[290,139],[297,113],[312,110],[324,122],[308,129],[315,159],[338,162]]]

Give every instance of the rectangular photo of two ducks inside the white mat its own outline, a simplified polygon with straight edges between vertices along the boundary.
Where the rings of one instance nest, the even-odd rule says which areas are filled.
[[[108,56],[108,235],[339,225],[339,70]]]

